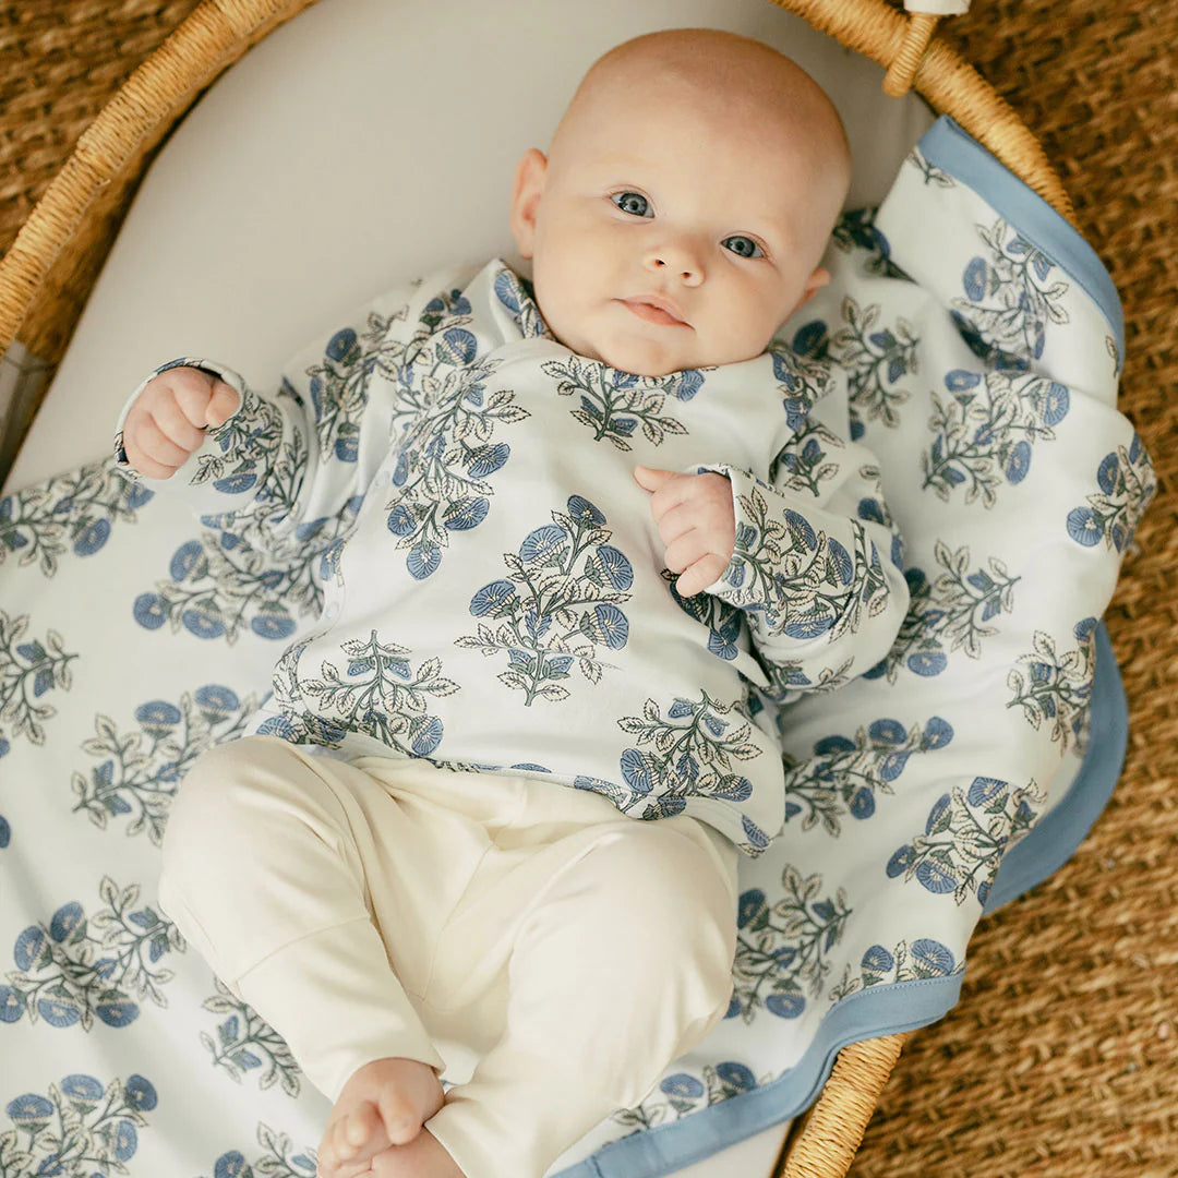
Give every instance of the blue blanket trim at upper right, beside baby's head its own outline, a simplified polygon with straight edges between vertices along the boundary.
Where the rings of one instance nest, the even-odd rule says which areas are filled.
[[[947,114],[928,128],[916,146],[931,164],[990,201],[995,212],[1017,225],[1020,233],[1088,292],[1108,320],[1117,353],[1124,356],[1125,317],[1120,297],[1092,246],[1043,197],[1007,171]]]

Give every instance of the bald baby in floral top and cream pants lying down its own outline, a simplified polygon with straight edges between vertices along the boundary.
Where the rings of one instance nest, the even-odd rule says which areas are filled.
[[[276,395],[187,358],[128,402],[130,477],[319,557],[160,902],[335,1100],[324,1178],[541,1178],[728,1013],[739,855],[785,812],[763,701],[907,608],[845,385],[769,349],[849,167],[775,51],[641,37],[519,161],[530,283],[378,299]]]

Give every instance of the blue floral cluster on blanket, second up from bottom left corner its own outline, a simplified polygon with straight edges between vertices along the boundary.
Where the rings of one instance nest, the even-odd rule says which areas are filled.
[[[139,1018],[144,999],[167,1005],[163,986],[172,971],[155,966],[164,954],[184,948],[179,931],[150,905],[139,906],[138,885],[120,891],[104,876],[99,894],[106,907],[90,920],[71,901],[48,927],[29,925],[20,933],[13,947],[16,971],[0,988],[0,1021],[15,1023],[27,1013],[31,1023],[91,1031],[97,1015],[119,1028]]]

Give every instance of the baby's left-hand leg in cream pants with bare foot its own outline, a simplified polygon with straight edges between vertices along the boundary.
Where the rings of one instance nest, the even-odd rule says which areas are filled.
[[[164,842],[160,906],[337,1101],[324,1173],[358,1172],[338,1166],[410,1140],[442,1103],[443,1060],[368,904],[379,802],[396,806],[348,765],[247,737],[193,766]],[[379,1084],[371,1067],[355,1081],[377,1060]]]

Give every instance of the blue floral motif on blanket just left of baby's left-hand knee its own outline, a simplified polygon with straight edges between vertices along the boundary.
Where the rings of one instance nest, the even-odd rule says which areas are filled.
[[[73,813],[85,812],[102,830],[112,819],[130,818],[128,835],[146,832],[160,846],[180,779],[205,749],[240,736],[256,707],[254,696],[239,700],[230,688],[209,683],[185,691],[179,704],[140,704],[138,733],[120,734],[113,720],[95,715],[98,735],[81,747],[99,763],[88,774],[72,775]]]

